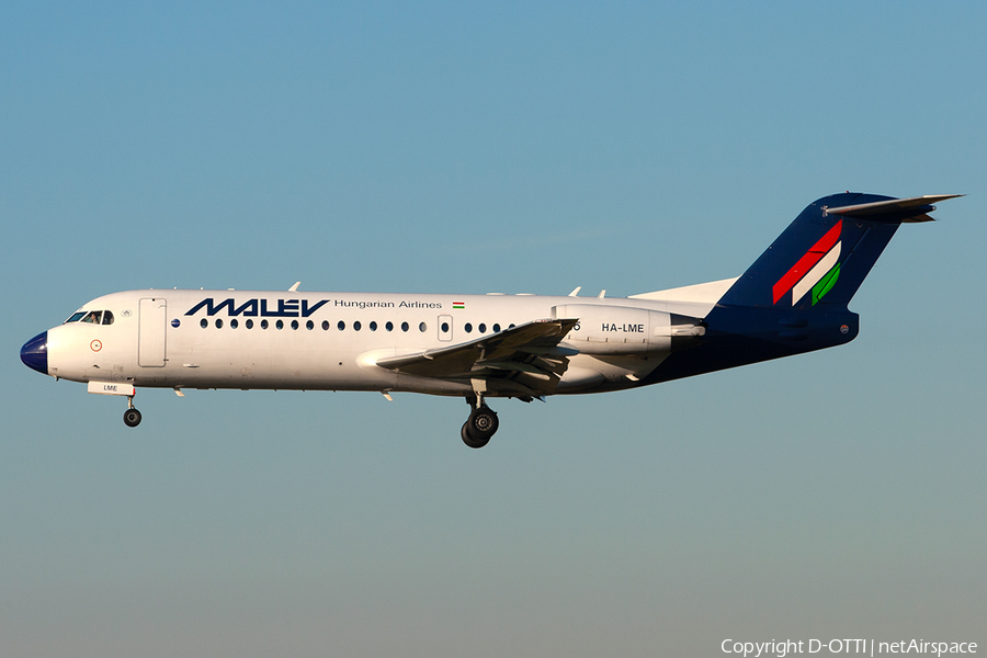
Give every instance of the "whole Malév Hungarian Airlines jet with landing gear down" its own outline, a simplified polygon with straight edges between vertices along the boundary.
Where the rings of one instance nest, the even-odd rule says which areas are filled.
[[[901,224],[934,203],[842,193],[809,204],[740,276],[629,297],[144,290],[83,304],[21,361],[89,393],[138,387],[458,396],[483,447],[490,398],[622,390],[850,342],[850,299]]]

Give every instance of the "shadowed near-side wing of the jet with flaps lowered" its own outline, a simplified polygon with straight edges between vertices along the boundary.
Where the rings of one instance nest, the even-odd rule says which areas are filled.
[[[553,393],[569,356],[578,354],[558,347],[578,321],[535,320],[449,348],[388,356],[377,365],[422,377],[483,379],[488,393],[530,399]]]

